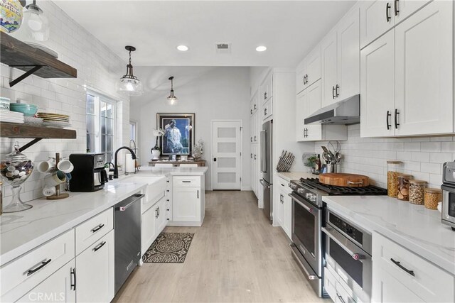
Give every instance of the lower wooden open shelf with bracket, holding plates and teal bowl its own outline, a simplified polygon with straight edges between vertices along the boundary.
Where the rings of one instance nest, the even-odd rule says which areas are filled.
[[[44,126],[31,126],[21,123],[0,122],[0,137],[3,138],[33,138],[19,150],[25,150],[31,145],[47,139],[75,139],[76,131],[73,129],[51,128]]]

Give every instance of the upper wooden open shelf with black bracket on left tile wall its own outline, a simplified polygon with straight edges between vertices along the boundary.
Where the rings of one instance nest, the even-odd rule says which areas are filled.
[[[9,86],[20,82],[30,75],[42,78],[75,78],[77,70],[43,50],[17,40],[7,33],[0,32],[1,55],[0,61],[10,67],[16,67],[26,72],[21,77],[9,82]]]

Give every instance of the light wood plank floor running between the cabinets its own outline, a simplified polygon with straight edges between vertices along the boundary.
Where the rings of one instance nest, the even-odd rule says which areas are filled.
[[[316,297],[252,192],[206,192],[202,227],[185,263],[144,263],[114,302],[330,302]]]

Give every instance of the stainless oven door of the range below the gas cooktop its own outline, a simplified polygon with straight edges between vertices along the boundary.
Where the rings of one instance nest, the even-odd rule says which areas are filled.
[[[322,276],[322,209],[292,193],[291,239],[318,277]]]

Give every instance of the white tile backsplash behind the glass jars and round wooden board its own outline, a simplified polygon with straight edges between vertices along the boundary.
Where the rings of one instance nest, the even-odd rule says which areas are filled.
[[[360,138],[360,124],[348,126],[348,140],[340,141],[342,172],[367,175],[373,184],[387,187],[387,160],[402,160],[402,171],[414,179],[440,187],[442,165],[455,160],[455,136],[422,138]],[[315,144],[315,152],[322,153]]]

